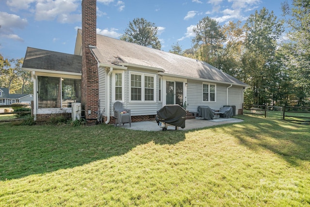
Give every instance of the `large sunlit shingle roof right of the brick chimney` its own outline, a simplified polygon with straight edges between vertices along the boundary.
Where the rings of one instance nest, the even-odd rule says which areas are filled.
[[[136,64],[160,68],[166,74],[245,85],[240,80],[202,61],[97,34],[92,48],[102,64]]]

